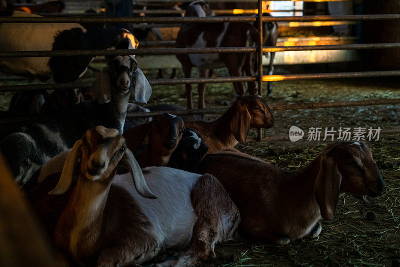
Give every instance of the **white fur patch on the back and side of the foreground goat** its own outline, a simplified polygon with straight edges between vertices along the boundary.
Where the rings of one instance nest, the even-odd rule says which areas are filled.
[[[160,244],[165,247],[186,245],[196,221],[190,191],[201,175],[168,167],[147,167],[143,173],[148,188],[158,198],[139,195],[130,173],[115,175],[112,184],[125,188],[134,197],[153,224]]]

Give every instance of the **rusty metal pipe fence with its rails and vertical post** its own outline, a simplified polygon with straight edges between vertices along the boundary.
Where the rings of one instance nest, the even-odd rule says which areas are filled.
[[[320,1],[320,0],[318,0]],[[216,23],[216,22],[256,22],[258,24],[257,47],[206,47],[206,48],[140,48],[135,50],[51,50],[51,51],[2,51],[0,57],[39,57],[39,56],[95,56],[95,55],[129,55],[129,54],[178,54],[178,53],[227,53],[227,52],[257,52],[258,76],[240,77],[213,77],[213,78],[178,78],[178,79],[153,79],[151,85],[171,85],[183,83],[209,83],[232,81],[257,81],[258,93],[262,95],[263,81],[293,80],[293,79],[323,79],[343,77],[373,77],[373,76],[400,76],[400,70],[389,71],[362,71],[362,72],[336,72],[336,73],[311,73],[311,74],[282,74],[262,75],[262,52],[276,51],[302,51],[302,50],[337,50],[337,49],[386,49],[400,48],[400,43],[365,43],[365,44],[335,44],[335,45],[299,45],[299,46],[266,46],[262,47],[262,22],[287,21],[287,22],[315,22],[321,21],[363,21],[363,20],[389,20],[400,19],[400,14],[378,15],[306,15],[306,16],[262,16],[262,2],[258,0],[257,17],[255,16],[212,16],[212,17],[0,17],[0,23]],[[22,90],[48,90],[67,89],[90,86],[90,82],[81,83],[43,83],[20,84],[0,86],[0,91]],[[362,101],[338,101],[338,102],[311,102],[294,104],[271,104],[272,110],[324,108],[357,105],[377,105],[400,103],[400,98],[372,99]],[[206,108],[191,110],[168,110],[166,112],[177,115],[221,113],[226,108]],[[128,114],[127,117],[148,117],[165,111]],[[23,120],[24,118],[19,118]],[[1,120],[3,123],[5,120]],[[9,122],[9,119],[7,119]],[[15,120],[14,120],[15,121]]]

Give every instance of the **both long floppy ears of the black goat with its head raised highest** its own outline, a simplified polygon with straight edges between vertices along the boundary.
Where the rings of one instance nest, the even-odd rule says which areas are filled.
[[[125,56],[124,56],[125,57]],[[124,58],[120,57],[120,58]],[[117,57],[119,58],[119,57]],[[136,102],[144,102],[151,96],[151,86],[148,83],[146,77],[140,68],[136,68],[137,65],[136,60],[133,56],[129,56],[131,62],[129,69],[133,72],[134,80],[130,81],[131,86],[134,84],[134,97]],[[116,59],[114,59],[116,60]],[[121,65],[123,63],[121,62]],[[116,84],[111,84],[111,75],[110,69],[108,66],[105,66],[101,69],[100,73],[98,73],[96,79],[92,84],[93,94],[100,104],[107,103],[111,99],[111,90],[116,86]]]

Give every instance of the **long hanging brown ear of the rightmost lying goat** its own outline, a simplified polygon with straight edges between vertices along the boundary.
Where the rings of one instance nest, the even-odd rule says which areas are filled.
[[[333,219],[340,193],[341,174],[331,156],[322,155],[314,184],[315,198],[324,219]]]

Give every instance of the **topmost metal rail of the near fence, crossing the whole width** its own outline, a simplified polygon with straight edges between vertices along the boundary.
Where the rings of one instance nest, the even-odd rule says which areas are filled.
[[[253,16],[207,16],[207,17],[27,17],[3,16],[0,23],[211,23],[211,22],[254,22]],[[400,14],[378,15],[306,15],[264,16],[262,21],[339,21],[339,20],[384,20],[400,19]]]

